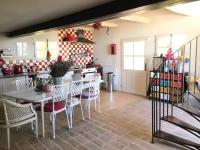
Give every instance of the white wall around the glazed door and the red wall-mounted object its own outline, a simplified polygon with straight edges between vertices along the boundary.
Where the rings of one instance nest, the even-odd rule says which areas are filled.
[[[96,62],[104,67],[105,73],[113,71],[116,74],[115,86],[121,89],[121,40],[134,37],[147,37],[147,60],[150,66],[155,52],[155,36],[165,34],[186,34],[187,41],[200,34],[200,19],[183,16],[154,17],[150,23],[121,22],[117,28],[111,28],[109,35],[106,28],[93,32],[94,57]],[[110,54],[110,44],[117,44],[117,55]]]

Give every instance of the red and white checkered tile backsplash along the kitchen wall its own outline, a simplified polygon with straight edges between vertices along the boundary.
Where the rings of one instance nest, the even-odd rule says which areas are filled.
[[[86,65],[90,61],[91,57],[93,56],[93,45],[83,44],[83,43],[70,43],[70,42],[63,41],[63,37],[66,36],[67,33],[73,34],[76,36],[75,32],[76,30],[74,28],[62,29],[58,31],[59,52],[60,52],[60,55],[62,55],[64,60],[68,60],[71,54],[78,54],[83,51],[87,51],[90,54],[89,56],[78,58],[75,62],[76,66]],[[92,40],[93,39],[92,32],[89,30],[86,30],[85,38]],[[6,64],[9,64],[9,65],[16,64],[17,62],[19,62],[20,64],[26,64],[27,66],[35,65],[38,67],[38,70],[40,71],[45,70],[49,64],[47,60],[42,60],[42,61],[33,60],[33,59],[6,60]]]

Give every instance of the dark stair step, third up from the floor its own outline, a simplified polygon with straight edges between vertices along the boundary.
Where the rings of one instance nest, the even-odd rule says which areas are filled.
[[[200,118],[200,110],[197,109],[197,108],[194,108],[194,107],[192,107],[192,106],[190,106],[190,105],[188,105],[186,103],[176,104],[175,106],[180,108],[180,109],[182,109],[182,110],[184,110],[184,111],[186,111],[189,114],[195,115],[195,116]]]

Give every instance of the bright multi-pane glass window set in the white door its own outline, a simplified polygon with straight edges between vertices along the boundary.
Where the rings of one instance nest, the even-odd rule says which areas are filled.
[[[123,42],[125,70],[145,70],[145,40]]]

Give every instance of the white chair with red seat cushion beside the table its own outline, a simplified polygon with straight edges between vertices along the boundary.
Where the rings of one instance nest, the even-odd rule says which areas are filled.
[[[67,114],[67,98],[69,95],[69,85],[70,83],[62,85],[54,85],[53,99],[44,105],[44,112],[50,113],[50,120],[53,127],[53,138],[55,139],[55,121],[56,115],[60,112],[65,111],[67,115],[68,126],[70,126],[68,114]],[[41,108],[37,108],[38,111]]]

